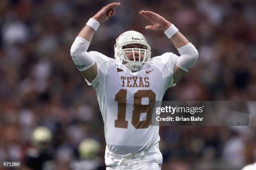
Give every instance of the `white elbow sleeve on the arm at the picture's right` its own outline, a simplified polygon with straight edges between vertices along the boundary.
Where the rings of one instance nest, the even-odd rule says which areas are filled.
[[[190,42],[182,47],[179,47],[177,50],[181,56],[179,56],[176,65],[182,70],[188,72],[189,68],[195,64],[198,58],[197,49]]]

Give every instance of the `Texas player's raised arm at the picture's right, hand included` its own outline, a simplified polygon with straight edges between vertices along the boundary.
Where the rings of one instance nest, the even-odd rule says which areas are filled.
[[[173,75],[174,83],[178,82],[197,60],[197,49],[194,45],[189,43],[187,38],[184,37],[184,35],[182,35],[182,33],[179,32],[177,28],[177,31],[175,31],[174,25],[172,23],[161,17],[159,14],[144,10],[141,10],[139,13],[152,23],[152,25],[146,26],[146,29],[163,30],[165,33],[167,32],[167,34],[173,34],[170,35],[170,39],[180,53],[180,57],[178,58],[174,67]]]

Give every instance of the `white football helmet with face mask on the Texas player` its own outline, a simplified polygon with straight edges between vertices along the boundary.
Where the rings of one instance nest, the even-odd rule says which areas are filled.
[[[140,44],[142,48],[125,48],[129,44]],[[130,70],[138,71],[141,69],[144,63],[149,63],[151,56],[151,47],[148,45],[146,38],[137,31],[123,32],[115,43],[115,60],[122,62]],[[125,52],[133,53],[133,60],[129,60],[125,55]],[[138,52],[139,60],[136,61],[134,52]],[[144,58],[141,60],[141,54],[144,54]]]

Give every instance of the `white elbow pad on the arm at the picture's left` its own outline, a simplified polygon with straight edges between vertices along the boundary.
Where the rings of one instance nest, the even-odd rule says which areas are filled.
[[[70,49],[70,55],[79,71],[88,70],[95,63],[95,59],[87,52],[90,42],[76,37]]]

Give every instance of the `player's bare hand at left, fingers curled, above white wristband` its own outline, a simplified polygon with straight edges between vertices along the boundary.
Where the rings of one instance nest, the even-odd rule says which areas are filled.
[[[120,6],[121,4],[119,2],[113,2],[105,7],[102,7],[102,9],[95,14],[92,18],[97,20],[99,23],[107,21],[110,17],[115,15],[114,8]]]

